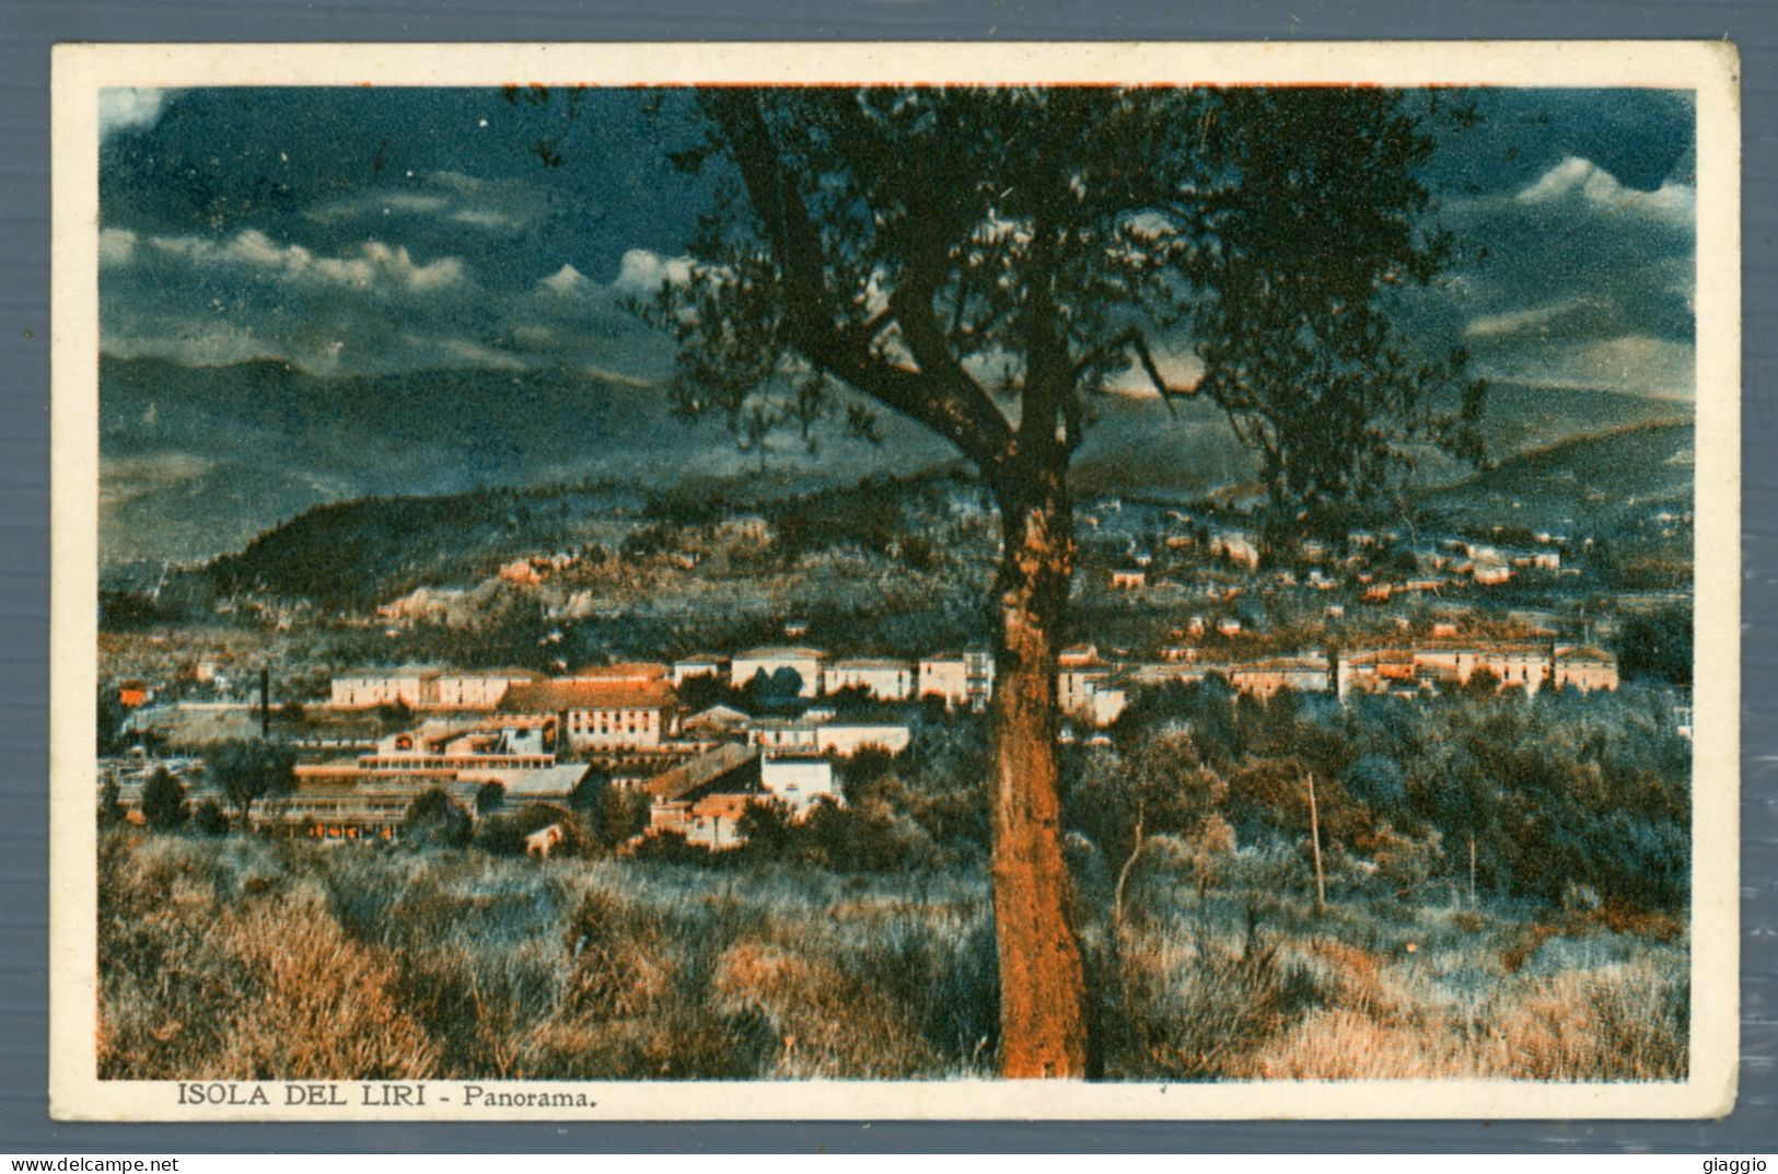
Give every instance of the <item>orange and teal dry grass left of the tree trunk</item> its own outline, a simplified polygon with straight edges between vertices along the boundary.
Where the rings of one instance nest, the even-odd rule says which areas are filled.
[[[992,1062],[985,888],[107,838],[107,1078],[946,1078]]]

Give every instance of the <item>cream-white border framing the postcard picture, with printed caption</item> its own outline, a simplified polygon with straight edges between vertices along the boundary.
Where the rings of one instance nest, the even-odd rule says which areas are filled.
[[[480,1082],[587,1108],[361,1103],[364,1082],[229,1082],[265,1105],[181,1105],[96,1071],[98,91],[112,85],[1374,84],[1691,89],[1698,110],[1696,736],[1691,1067],[1684,1082]],[[52,82],[50,1106],[62,1121],[1533,1119],[1718,1117],[1739,1003],[1739,59],[1703,41],[64,44]],[[368,1082],[377,1087],[380,1082]],[[332,1092],[300,1094],[292,1087]],[[204,1096],[187,1092],[187,1096]],[[441,1101],[450,1098],[450,1101]],[[343,1099],[345,1105],[332,1103]]]

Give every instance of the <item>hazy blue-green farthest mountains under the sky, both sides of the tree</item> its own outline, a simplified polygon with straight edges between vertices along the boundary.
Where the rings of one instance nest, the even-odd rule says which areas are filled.
[[[1081,493],[1202,495],[1252,478],[1252,457],[1209,404],[1108,397],[1076,459]],[[1677,420],[1684,404],[1606,391],[1497,386],[1490,452],[1510,457],[1577,434]],[[717,422],[685,425],[665,393],[580,372],[439,370],[324,379],[286,363],[190,368],[105,358],[100,366],[101,562],[112,569],[199,562],[242,550],[311,507],[366,496],[583,480],[663,491],[745,478],[800,493],[955,459],[919,427],[884,414],[882,445],[821,436],[809,454],[777,441],[761,466]],[[1424,484],[1465,478],[1438,457]]]

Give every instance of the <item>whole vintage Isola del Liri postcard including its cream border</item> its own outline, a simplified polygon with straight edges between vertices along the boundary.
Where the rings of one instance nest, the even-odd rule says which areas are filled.
[[[1707,1117],[1710,43],[62,46],[62,1119]]]

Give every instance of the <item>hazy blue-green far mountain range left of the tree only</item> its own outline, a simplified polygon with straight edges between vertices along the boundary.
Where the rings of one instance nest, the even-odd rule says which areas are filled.
[[[948,457],[912,425],[889,443],[786,441],[791,486]],[[439,370],[320,379],[286,363],[100,366],[101,560],[201,560],[325,502],[597,480],[749,473],[717,422],[685,425],[654,386],[578,372]]]

